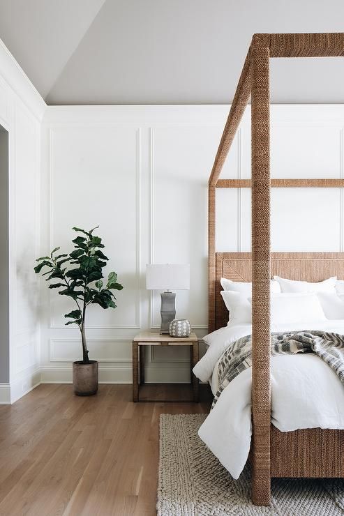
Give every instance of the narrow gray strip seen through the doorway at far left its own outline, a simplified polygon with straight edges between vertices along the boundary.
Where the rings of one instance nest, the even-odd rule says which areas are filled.
[[[8,132],[0,126],[0,384],[10,380],[8,308]]]

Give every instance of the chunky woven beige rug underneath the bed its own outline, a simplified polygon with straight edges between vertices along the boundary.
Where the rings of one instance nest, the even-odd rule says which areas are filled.
[[[341,479],[273,479],[271,507],[250,501],[250,470],[233,480],[197,435],[202,414],[160,416],[158,516],[344,515]]]

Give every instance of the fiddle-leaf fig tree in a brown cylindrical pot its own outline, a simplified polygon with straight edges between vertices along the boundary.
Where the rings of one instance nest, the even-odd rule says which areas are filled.
[[[35,273],[40,273],[43,268],[48,271],[43,273],[46,281],[57,280],[50,283],[50,289],[61,289],[61,296],[69,296],[75,301],[77,308],[64,317],[70,319],[66,322],[76,324],[80,329],[82,340],[82,361],[73,362],[73,387],[75,394],[90,396],[98,390],[98,362],[89,359],[85,334],[85,319],[87,307],[91,304],[100,305],[101,308],[116,308],[116,298],[112,290],[123,289],[117,283],[117,274],[109,273],[107,283],[103,287],[103,267],[108,258],[101,251],[105,246],[101,238],[93,234],[94,230],[85,231],[80,227],[73,227],[75,232],[82,233],[72,241],[75,250],[69,254],[57,255],[60,248],[54,248],[50,256],[38,258]],[[73,267],[71,267],[73,266]]]

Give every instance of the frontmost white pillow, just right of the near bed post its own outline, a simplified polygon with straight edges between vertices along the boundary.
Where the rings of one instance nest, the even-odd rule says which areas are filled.
[[[252,298],[248,301],[252,303]],[[316,294],[282,293],[271,296],[271,324],[311,323],[326,321]]]

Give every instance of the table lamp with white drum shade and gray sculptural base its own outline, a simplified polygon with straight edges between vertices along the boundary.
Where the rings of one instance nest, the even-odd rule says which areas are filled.
[[[176,294],[171,290],[190,289],[189,264],[151,264],[147,265],[146,287],[161,292],[160,333],[169,333],[170,322],[176,317]]]

